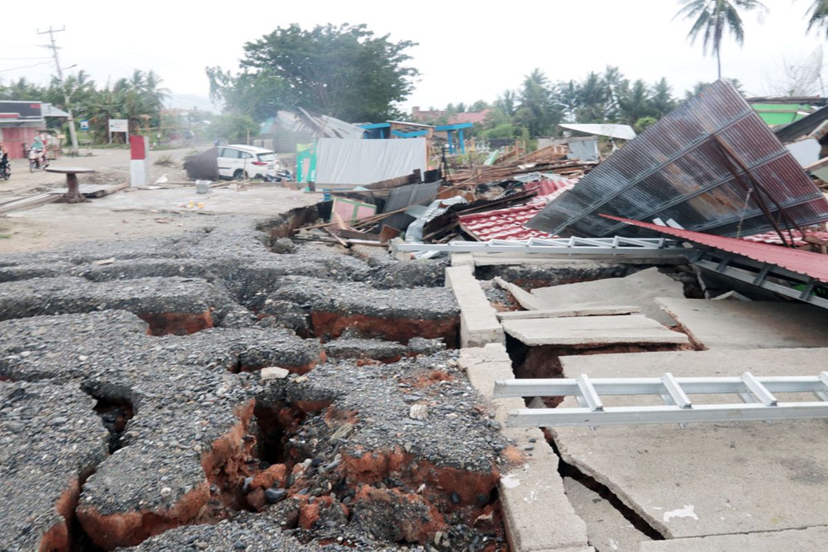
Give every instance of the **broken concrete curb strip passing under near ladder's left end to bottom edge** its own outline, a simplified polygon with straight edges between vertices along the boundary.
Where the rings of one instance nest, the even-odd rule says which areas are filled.
[[[503,345],[462,349],[458,363],[474,388],[488,398],[493,396],[496,380],[514,377]],[[498,399],[493,404],[495,420],[505,425],[508,410],[522,408],[523,401],[514,397]],[[511,550],[592,550],[587,542],[585,523],[566,498],[563,480],[558,475],[558,457],[546,444],[541,430],[510,428],[503,430],[503,434],[513,439],[513,450],[521,456],[517,463],[504,469],[499,485]]]

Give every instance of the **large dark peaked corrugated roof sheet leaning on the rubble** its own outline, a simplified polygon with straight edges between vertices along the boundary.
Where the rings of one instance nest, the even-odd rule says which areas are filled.
[[[715,82],[662,118],[549,204],[527,226],[565,236],[613,236],[622,227],[598,213],[673,219],[721,235],[773,229],[734,177],[722,146],[748,168],[789,218],[828,219],[828,202],[758,114],[729,84]],[[749,179],[734,164],[745,184]],[[777,207],[768,201],[774,214]]]

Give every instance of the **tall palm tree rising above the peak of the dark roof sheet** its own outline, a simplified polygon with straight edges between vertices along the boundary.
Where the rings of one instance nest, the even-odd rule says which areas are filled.
[[[705,54],[707,54],[707,46],[712,47],[716,55],[716,65],[719,68],[719,79],[721,79],[721,45],[724,31],[730,31],[736,43],[742,46],[744,28],[739,11],[749,12],[754,9],[767,11],[768,8],[758,0],[683,0],[683,2],[684,6],[676,13],[676,17],[682,16],[683,19],[696,20],[687,36],[691,39],[691,43],[695,43],[699,35],[702,35],[702,50]]]

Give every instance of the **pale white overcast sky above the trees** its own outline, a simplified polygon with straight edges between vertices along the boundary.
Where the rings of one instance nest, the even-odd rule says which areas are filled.
[[[803,65],[825,41],[806,35],[811,0],[765,0],[769,14],[744,17],[745,41],[722,47],[724,76],[749,95],[772,94],[783,66]],[[130,6],[140,11],[128,12]],[[686,40],[690,23],[673,21],[674,0],[547,0],[546,2],[4,2],[0,79],[25,76],[46,84],[54,65],[37,30],[57,33],[61,65],[75,65],[105,82],[132,69],[156,70],[176,95],[176,107],[206,98],[205,66],[235,70],[242,46],[296,22],[366,23],[392,40],[412,40],[411,64],[420,70],[403,107],[493,100],[517,89],[540,68],[552,80],[581,79],[617,65],[629,79],[667,77],[676,95],[715,79],[715,59]],[[13,23],[10,23],[13,22]],[[42,65],[36,65],[42,64]],[[35,65],[15,69],[22,65]],[[181,96],[186,96],[181,98]],[[184,103],[184,105],[181,105]]]

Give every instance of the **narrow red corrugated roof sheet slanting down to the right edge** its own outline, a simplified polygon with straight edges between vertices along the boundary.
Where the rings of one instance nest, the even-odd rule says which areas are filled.
[[[629,218],[612,217],[609,215],[602,216],[612,218],[624,224],[634,224],[640,228],[647,228],[669,236],[675,236],[688,242],[714,247],[721,251],[734,253],[734,255],[748,257],[753,259],[753,261],[767,262],[768,264],[781,266],[789,271],[811,276],[811,278],[817,281],[828,283],[828,255],[800,251],[798,249],[792,249],[791,247],[779,247],[768,243],[746,242],[737,238],[724,238],[723,236],[713,236],[700,232],[692,232],[691,230],[658,226],[657,224],[643,223],[638,220],[630,220]]]

